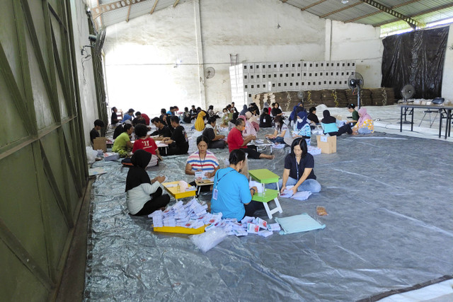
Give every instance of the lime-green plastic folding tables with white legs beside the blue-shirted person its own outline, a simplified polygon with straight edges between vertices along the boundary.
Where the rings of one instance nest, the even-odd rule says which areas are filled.
[[[250,179],[256,180],[256,182],[260,182],[263,186],[263,193],[256,192],[253,194],[252,200],[256,202],[263,202],[264,208],[266,213],[268,213],[269,219],[272,219],[274,213],[282,213],[283,209],[280,206],[280,202],[278,201],[278,195],[280,193],[280,188],[278,186],[278,179],[280,178],[277,174],[271,172],[268,169],[257,169],[257,170],[248,170],[248,174],[250,175]],[[277,183],[277,190],[272,189],[265,189],[265,184],[268,183]],[[270,209],[268,203],[274,200],[275,208]]]

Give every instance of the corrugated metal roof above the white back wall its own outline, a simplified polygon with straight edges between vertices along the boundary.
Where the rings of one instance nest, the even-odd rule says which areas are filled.
[[[153,12],[156,12],[170,6],[176,6],[185,1],[190,0],[88,0],[88,5],[91,7],[96,25],[108,26],[150,13],[154,6]],[[382,4],[397,13],[401,13],[403,16],[413,18],[421,24],[443,20],[453,16],[452,0],[349,0],[346,4],[342,4],[342,0],[280,1],[321,18],[372,26],[397,23],[400,19],[365,3],[367,1]],[[98,8],[101,6],[105,9],[98,16]],[[108,11],[106,10],[107,8]]]

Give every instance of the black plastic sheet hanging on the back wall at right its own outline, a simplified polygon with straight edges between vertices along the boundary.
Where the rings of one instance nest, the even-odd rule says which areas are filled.
[[[382,87],[393,87],[395,98],[411,84],[413,98],[437,98],[442,93],[442,74],[449,27],[418,30],[384,38]]]

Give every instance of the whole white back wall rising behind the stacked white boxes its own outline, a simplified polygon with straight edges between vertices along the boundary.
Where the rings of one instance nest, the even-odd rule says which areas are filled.
[[[108,27],[104,51],[109,105],[149,115],[171,105],[221,110],[231,102],[229,54],[242,63],[323,60],[328,53],[359,59],[365,86],[381,82],[378,28],[326,21],[280,0],[188,1]],[[182,64],[173,68],[176,59]],[[208,66],[216,70],[212,79],[202,74]]]

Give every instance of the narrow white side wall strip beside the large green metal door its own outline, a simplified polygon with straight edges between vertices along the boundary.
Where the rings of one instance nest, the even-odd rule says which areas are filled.
[[[70,1],[71,3],[71,22],[74,28],[74,46],[76,47],[76,63],[78,72],[78,81],[80,87],[82,119],[84,121],[84,134],[86,146],[91,145],[90,131],[93,129],[93,122],[99,118],[98,106],[96,105],[96,86],[93,76],[93,61],[84,59],[80,50],[84,45],[89,45],[88,41],[88,18],[85,13],[85,4],[83,1]],[[91,48],[86,47],[88,54],[91,54]],[[84,63],[82,64],[82,61]]]

